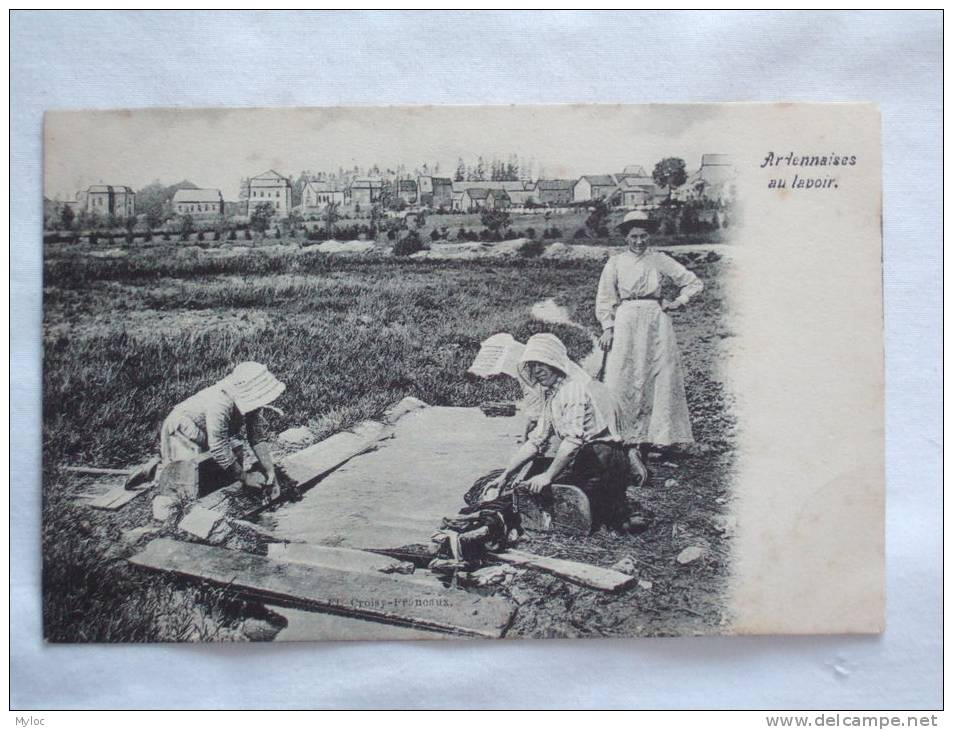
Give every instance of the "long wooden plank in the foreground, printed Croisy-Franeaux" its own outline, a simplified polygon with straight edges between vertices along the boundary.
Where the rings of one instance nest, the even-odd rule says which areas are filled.
[[[462,636],[498,638],[516,611],[508,601],[159,538],[129,561],[143,568],[224,585],[275,603],[372,618]]]

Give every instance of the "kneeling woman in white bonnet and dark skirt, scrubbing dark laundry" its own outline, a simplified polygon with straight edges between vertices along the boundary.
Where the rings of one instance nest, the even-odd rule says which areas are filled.
[[[556,455],[545,471],[526,481],[530,492],[539,493],[553,482],[575,485],[589,497],[594,522],[627,531],[630,510],[625,491],[630,471],[619,408],[602,383],[571,375],[569,362],[566,346],[555,335],[533,335],[526,343],[519,369],[526,380],[543,389],[542,413],[484,499],[499,494],[555,435],[560,439]]]

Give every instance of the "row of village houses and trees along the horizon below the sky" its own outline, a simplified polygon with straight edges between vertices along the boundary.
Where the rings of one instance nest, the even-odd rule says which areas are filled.
[[[431,242],[604,244],[613,218],[630,210],[648,211],[663,236],[708,239],[734,218],[737,173],[728,155],[704,154],[695,170],[668,157],[651,168],[630,164],[565,179],[532,178],[535,167],[510,155],[473,165],[460,158],[452,177],[441,176],[439,164],[303,171],[297,178],[267,170],[239,181],[234,200],[189,180],[140,190],[98,182],[74,200],[44,198],[44,242],[337,239],[379,241],[409,255]]]

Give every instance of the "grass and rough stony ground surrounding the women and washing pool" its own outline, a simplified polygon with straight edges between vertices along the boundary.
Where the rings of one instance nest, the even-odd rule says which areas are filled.
[[[723,509],[731,418],[721,386],[711,376],[716,345],[730,336],[721,325],[720,266],[697,265],[706,291],[691,310],[676,314],[696,438],[709,450],[685,455],[678,474],[674,465],[658,465],[660,484],[670,477],[693,481],[681,496],[671,490],[645,496],[659,516],[658,540],[667,542],[655,544],[649,534],[597,533],[576,544],[557,540],[533,549],[580,559],[586,550],[595,551],[597,562],[605,564],[616,555],[653,550],[668,561],[686,530],[705,529],[701,523],[707,518],[698,515]],[[147,521],[147,500],[119,513],[92,513],[71,500],[88,485],[57,466],[139,462],[155,450],[158,427],[171,407],[241,360],[267,363],[288,384],[281,403],[288,421],[277,427],[309,425],[319,436],[373,417],[407,395],[461,406],[514,399],[512,382],[464,375],[479,342],[499,331],[524,340],[534,332],[553,331],[581,359],[596,328],[592,311],[600,269],[597,262],[361,260],[320,254],[195,258],[177,256],[174,244],[120,259],[48,249],[43,362],[47,638],[243,639],[241,626],[256,611],[221,592],[183,589],[128,568],[123,558],[132,545],[123,542],[121,532]],[[567,306],[583,328],[532,319],[531,305],[549,297]],[[678,539],[676,528],[682,530]],[[661,606],[652,609],[655,613],[646,611],[644,598],[637,611],[634,602],[622,598],[611,610],[598,603],[602,596],[573,600],[592,615],[618,614],[612,626],[608,619],[593,619],[599,635],[676,633],[683,628],[678,621],[695,620],[692,615],[701,617],[702,630],[716,630],[724,551],[714,549],[712,556],[704,565],[672,574],[673,585],[687,581],[686,590],[699,600],[676,623],[677,611]],[[530,588],[540,595],[564,591],[538,580]],[[638,631],[630,620],[635,615]],[[514,628],[520,635],[585,633],[572,622],[557,623],[549,609],[526,609]]]

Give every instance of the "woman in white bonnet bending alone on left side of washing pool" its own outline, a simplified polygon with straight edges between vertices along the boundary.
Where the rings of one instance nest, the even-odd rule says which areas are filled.
[[[260,411],[285,391],[285,384],[257,362],[242,362],[225,378],[172,409],[162,424],[163,463],[192,459],[206,451],[243,485],[258,489],[232,451],[232,439],[244,427],[248,443],[265,472],[267,496],[277,496],[271,445],[265,440]]]

